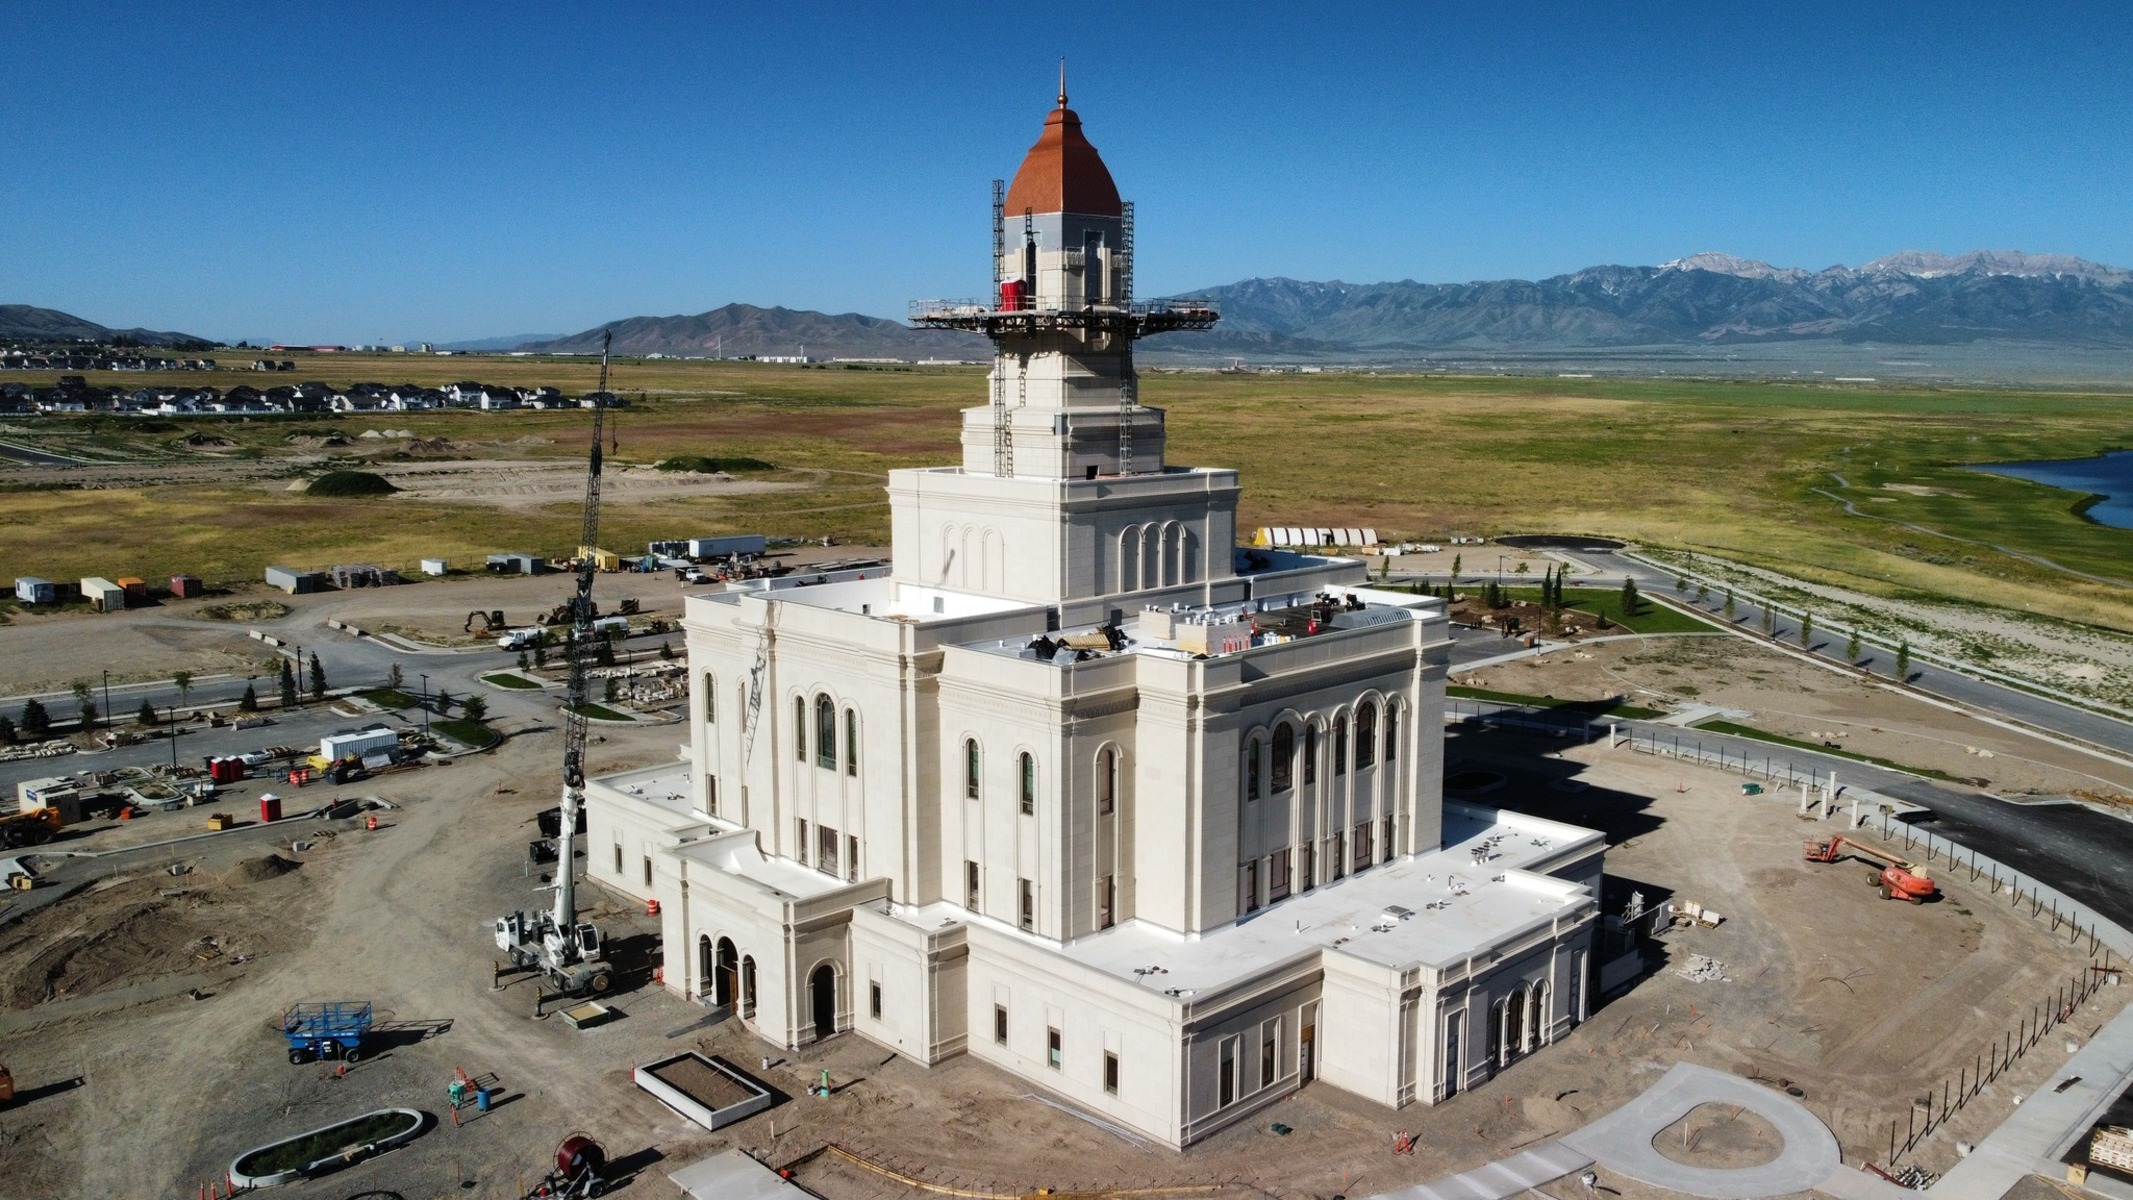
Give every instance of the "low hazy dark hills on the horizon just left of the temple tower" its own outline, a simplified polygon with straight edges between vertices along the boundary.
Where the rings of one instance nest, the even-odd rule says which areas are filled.
[[[693,318],[629,318],[570,337],[529,341],[540,354],[599,354],[602,330],[614,330],[616,354],[744,358],[806,354],[808,358],[992,358],[992,343],[968,333],[921,330],[860,313],[759,309],[725,305]]]

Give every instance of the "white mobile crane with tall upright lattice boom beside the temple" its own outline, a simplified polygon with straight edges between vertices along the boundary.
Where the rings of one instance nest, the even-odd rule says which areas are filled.
[[[584,535],[578,546],[599,546],[599,450],[606,433],[608,345],[614,330],[599,337],[599,390],[591,396],[593,448],[584,467]],[[576,853],[578,812],[584,806],[584,656],[593,652],[593,556],[576,563],[578,590],[570,599],[570,637],[563,661],[570,684],[563,693],[563,812],[557,831],[555,908],[497,917],[497,948],[518,970],[540,972],[565,995],[597,995],[614,987],[614,970],[599,953],[599,927],[578,921]]]

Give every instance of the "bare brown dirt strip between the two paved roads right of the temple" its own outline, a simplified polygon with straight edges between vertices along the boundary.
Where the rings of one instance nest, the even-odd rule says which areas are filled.
[[[1741,637],[1587,644],[1465,671],[1453,682],[1555,699],[1627,697],[1647,708],[1706,703],[1747,714],[1728,716],[1741,725],[1813,744],[1834,742],[2001,795],[2133,793],[2133,767]]]

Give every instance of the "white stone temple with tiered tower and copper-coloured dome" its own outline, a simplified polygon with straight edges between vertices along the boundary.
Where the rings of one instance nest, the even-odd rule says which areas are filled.
[[[1604,840],[1446,804],[1442,601],[1237,546],[1165,460],[1133,209],[1060,96],[962,463],[894,471],[894,567],[687,597],[674,765],[593,780],[589,878],[668,989],[776,1047],[977,1055],[1173,1147],[1318,1081],[1433,1104],[1593,1002]]]

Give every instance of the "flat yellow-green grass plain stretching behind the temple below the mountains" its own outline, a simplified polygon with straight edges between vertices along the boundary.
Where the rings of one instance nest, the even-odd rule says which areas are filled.
[[[307,356],[292,375],[177,375],[254,386],[478,377],[584,390],[597,364],[542,358]],[[132,386],[158,377],[98,377]],[[749,531],[881,544],[892,467],[953,463],[979,369],[804,369],[621,362],[623,463],[757,458],[821,471],[793,492],[612,505],[604,541]],[[1964,471],[2073,458],[2133,441],[2133,396],[1956,392],[1785,382],[1529,379],[1393,373],[1150,373],[1169,411],[1169,460],[1237,467],[1239,529],[1376,526],[1384,535],[1576,531],[1723,554],[1881,595],[1956,597],[2133,629],[2133,531],[2080,518],[2080,497]],[[188,433],[239,460],[290,450],[292,431],[410,428],[484,456],[578,456],[584,413],[378,413],[254,422],[9,422],[17,437],[113,458],[196,456]],[[23,433],[28,431],[28,433]],[[538,441],[520,441],[538,439]],[[256,580],[267,563],[412,567],[497,548],[565,552],[574,505],[497,509],[318,499],[260,486],[11,490],[0,563],[47,578]],[[1864,516],[1845,512],[1849,501]],[[1907,524],[1922,526],[1909,529]],[[1930,533],[1928,533],[1930,531]],[[2039,563],[2033,558],[2043,558]]]

